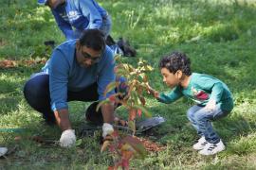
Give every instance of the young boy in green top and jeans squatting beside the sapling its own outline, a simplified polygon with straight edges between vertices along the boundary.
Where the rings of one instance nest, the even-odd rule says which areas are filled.
[[[162,103],[172,103],[181,96],[192,99],[196,105],[187,115],[192,126],[201,136],[193,149],[201,155],[213,155],[225,150],[225,145],[211,126],[211,121],[227,116],[233,109],[229,88],[221,80],[198,73],[192,73],[191,61],[180,52],[160,59],[159,67],[163,81],[173,89],[170,93],[158,93],[150,86],[149,92]]]

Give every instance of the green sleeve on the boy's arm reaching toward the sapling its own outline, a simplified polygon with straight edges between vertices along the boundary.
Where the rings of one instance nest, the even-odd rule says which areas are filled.
[[[175,100],[179,99],[183,94],[178,87],[175,87],[171,93],[159,93],[159,98],[157,100],[162,103],[173,103]]]

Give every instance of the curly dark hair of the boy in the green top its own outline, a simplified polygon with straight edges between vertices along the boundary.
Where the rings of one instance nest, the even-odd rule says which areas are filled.
[[[173,52],[171,55],[165,56],[159,61],[160,68],[166,68],[169,72],[175,74],[181,70],[186,76],[191,76],[191,60],[186,54],[181,52]]]

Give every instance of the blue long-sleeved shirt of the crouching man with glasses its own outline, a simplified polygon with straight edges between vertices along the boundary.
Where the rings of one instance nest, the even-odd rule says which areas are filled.
[[[90,67],[82,67],[76,59],[76,41],[62,43],[53,51],[43,71],[49,74],[51,109],[67,109],[67,91],[79,92],[98,83],[99,100],[103,100],[114,91],[103,95],[106,86],[115,81],[115,59],[112,50],[106,46],[101,60]],[[84,93],[86,95],[86,93]]]

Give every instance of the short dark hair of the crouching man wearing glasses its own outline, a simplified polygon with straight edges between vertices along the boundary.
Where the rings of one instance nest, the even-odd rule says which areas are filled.
[[[96,51],[103,51],[105,49],[105,38],[99,29],[85,29],[79,41],[82,46],[85,45]]]

